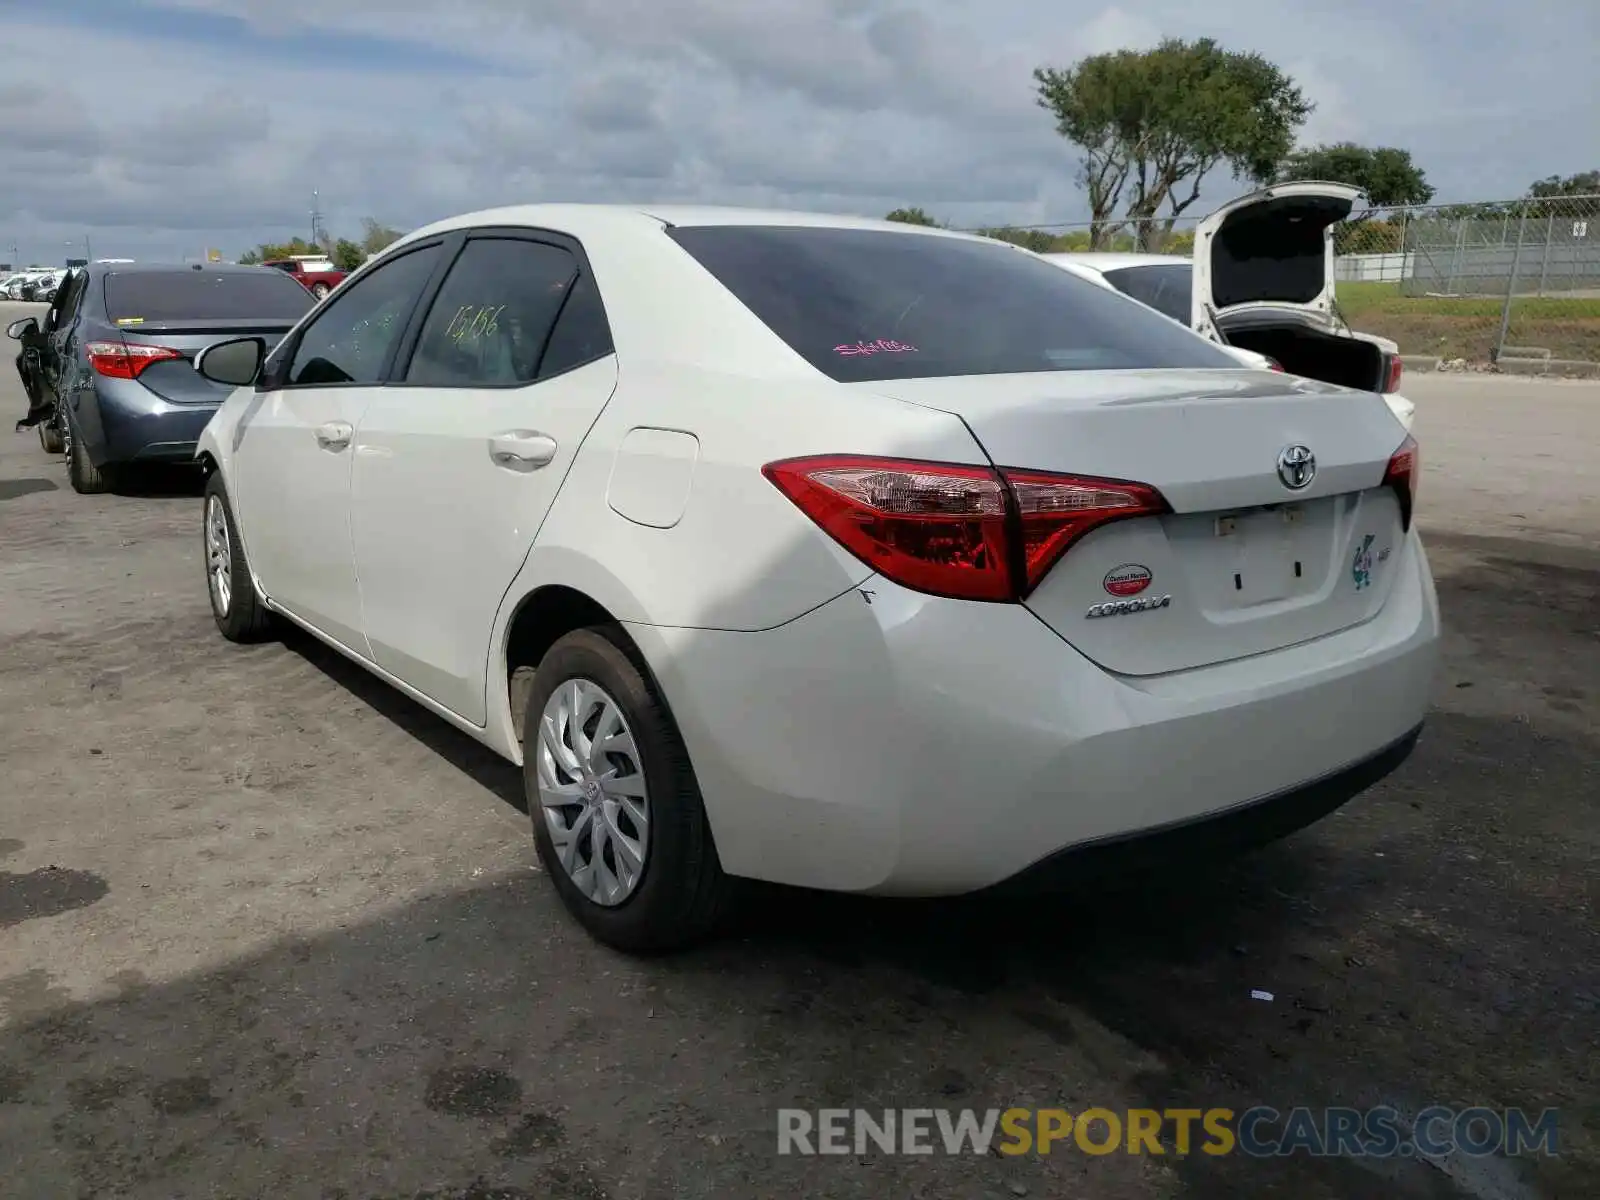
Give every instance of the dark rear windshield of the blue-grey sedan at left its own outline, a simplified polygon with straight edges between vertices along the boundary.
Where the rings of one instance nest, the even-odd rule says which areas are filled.
[[[139,270],[106,277],[114,322],[299,320],[317,302],[278,270]]]

